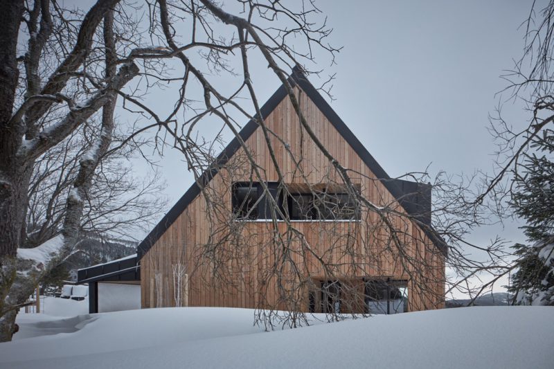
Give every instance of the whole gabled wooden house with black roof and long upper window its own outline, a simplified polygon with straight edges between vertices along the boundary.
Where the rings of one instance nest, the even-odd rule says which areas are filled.
[[[298,69],[289,82],[307,125],[367,206],[351,201],[281,86],[261,108],[274,158],[250,121],[139,245],[142,307],[442,308],[445,247],[431,229],[431,186],[388,177]],[[274,208],[260,201],[262,190]],[[339,210],[320,211],[316,198]],[[397,232],[368,206],[391,209]]]

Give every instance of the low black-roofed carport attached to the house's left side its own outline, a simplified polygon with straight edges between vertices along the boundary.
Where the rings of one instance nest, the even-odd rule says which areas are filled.
[[[77,284],[89,285],[89,313],[141,308],[141,266],[136,254],[79,269]]]

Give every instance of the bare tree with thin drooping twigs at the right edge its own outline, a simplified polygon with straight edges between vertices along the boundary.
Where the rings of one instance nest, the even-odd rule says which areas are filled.
[[[474,245],[466,241],[465,235],[474,228],[498,224],[505,219],[517,216],[514,204],[521,194],[521,183],[529,171],[529,159],[538,154],[537,143],[544,142],[553,127],[553,56],[552,35],[554,2],[547,1],[543,6],[533,1],[528,16],[521,24],[524,30],[524,49],[521,57],[515,60],[513,69],[501,76],[508,85],[498,96],[501,100],[496,114],[490,118],[490,133],[496,149],[492,174],[479,172],[468,178],[452,179],[443,174],[441,201],[449,203],[443,213],[443,226],[456,227],[449,238],[450,262],[454,263],[454,278],[449,291],[462,291],[471,296],[470,303],[488,291],[503,278],[513,276],[527,262],[529,253],[540,253],[540,249],[530,248],[523,252],[521,245],[515,253],[512,244],[499,237],[488,246]],[[506,96],[508,98],[506,98]],[[503,114],[504,103],[523,105],[529,112],[527,122],[511,122]],[[548,159],[546,159],[548,160]],[[545,183],[544,186],[547,187]],[[545,188],[546,188],[545,187]],[[440,188],[440,186],[439,186]],[[546,204],[542,204],[546,206]],[[521,215],[521,214],[520,214]],[[448,232],[446,232],[448,233]],[[460,237],[461,236],[461,237]],[[539,242],[542,247],[548,242]],[[467,253],[473,250],[474,255]],[[519,276],[521,277],[521,276]],[[481,282],[480,278],[483,278]],[[525,279],[525,278],[523,278]],[[522,285],[526,281],[518,278],[515,282]],[[473,284],[470,283],[473,280]],[[512,281],[513,282],[513,281]],[[520,286],[520,287],[521,287]],[[510,286],[510,291],[519,291],[518,286]],[[447,291],[448,292],[448,291]]]

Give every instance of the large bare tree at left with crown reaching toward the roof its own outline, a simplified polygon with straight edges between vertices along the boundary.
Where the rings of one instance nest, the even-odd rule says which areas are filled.
[[[212,17],[211,3],[172,2],[145,3],[150,12],[150,26],[141,27],[134,18],[137,8],[132,5],[118,6],[118,0],[98,0],[86,12],[67,10],[57,1],[37,0],[32,2],[7,1],[1,6],[2,24],[2,71],[1,101],[1,183],[0,233],[1,233],[1,276],[0,276],[0,331],[1,339],[10,339],[12,326],[17,312],[28,296],[31,286],[44,276],[55,264],[71,254],[78,239],[84,204],[93,183],[93,174],[98,168],[99,159],[109,150],[114,132],[114,109],[116,96],[124,99],[123,108],[141,116],[147,116],[153,122],[142,127],[132,127],[122,145],[141,139],[148,129],[157,128],[158,133],[151,142],[163,151],[166,145],[179,147],[188,159],[191,168],[197,164],[200,156],[211,152],[213,143],[199,143],[193,139],[189,129],[196,125],[199,118],[213,114],[216,109],[204,109],[195,114],[193,120],[177,124],[177,114],[184,109],[195,112],[193,100],[186,98],[188,78],[193,75],[204,87],[211,86],[204,75],[193,66],[185,51],[199,50],[203,60],[219,71],[229,71],[224,55],[233,53],[240,45],[253,45],[251,42],[233,40],[225,44],[222,39],[213,36],[211,25],[206,19]],[[140,6],[140,5],[139,5]],[[117,9],[115,18],[111,11]],[[193,43],[186,48],[175,47],[172,21],[169,13],[192,15]],[[307,12],[306,14],[309,14]],[[299,18],[301,14],[295,14]],[[112,19],[115,19],[112,20]],[[182,18],[181,18],[182,19]],[[103,20],[104,28],[100,33],[98,26]],[[271,21],[271,19],[267,19]],[[198,22],[198,23],[197,23]],[[321,34],[321,30],[309,29],[304,22],[301,28],[292,34]],[[202,29],[207,42],[196,42],[197,29]],[[147,34],[150,44],[142,35]],[[102,35],[102,36],[101,36]],[[127,37],[133,35],[133,37]],[[19,45],[26,47],[18,50]],[[152,44],[152,40],[163,40],[168,46]],[[307,37],[310,40],[309,37]],[[274,46],[271,46],[272,48]],[[285,44],[277,46],[290,54]],[[275,50],[277,50],[277,48]],[[19,57],[19,55],[23,56]],[[173,77],[170,71],[172,60],[184,66],[181,77]],[[135,62],[141,65],[137,66]],[[125,90],[125,85],[141,73],[142,79],[134,89]],[[166,118],[154,113],[142,101],[144,91],[161,87],[162,84],[177,82],[181,84],[175,109]],[[207,94],[206,94],[207,93]],[[223,98],[213,87],[204,88],[204,97],[218,100]],[[235,109],[240,105],[234,102],[235,94],[229,100]],[[134,107],[129,107],[134,105]],[[218,103],[217,107],[220,107]],[[33,252],[21,253],[24,245],[28,195],[33,177],[35,161],[48,150],[61,145],[91,119],[98,116],[100,125],[96,137],[88,137],[91,149],[78,159],[78,171],[71,179],[63,212],[62,233],[37,246],[35,251],[46,258],[33,258]],[[187,126],[189,128],[187,128]],[[161,129],[161,130],[160,130]],[[188,129],[188,132],[186,131]],[[84,131],[82,131],[84,132]],[[89,132],[91,133],[91,132]],[[206,151],[207,150],[207,151]],[[204,156],[205,157],[205,156]],[[64,179],[66,181],[66,179]],[[31,217],[33,215],[30,215]]]

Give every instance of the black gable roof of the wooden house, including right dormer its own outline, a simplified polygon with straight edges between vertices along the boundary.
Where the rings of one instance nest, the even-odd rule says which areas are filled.
[[[426,185],[425,183],[414,183],[409,181],[402,181],[399,179],[392,179],[386,174],[385,170],[377,163],[375,158],[368,152],[366,147],[361,144],[355,134],[350,131],[346,123],[335,113],[332,107],[325,101],[323,96],[316,90],[316,88],[307,80],[306,76],[302,73],[301,69],[298,66],[295,66],[292,69],[292,74],[288,78],[289,84],[300,87],[306,95],[314,102],[316,107],[325,115],[325,118],[333,125],[335,129],[343,136],[344,140],[352,147],[356,154],[360,157],[362,161],[368,166],[368,168],[375,174],[375,177],[379,179],[385,186],[385,188],[391,192],[391,195],[399,201],[400,205],[406,213],[414,215],[420,218],[421,222],[431,226],[430,211],[431,211],[431,185]],[[282,84],[277,91],[267,100],[267,102],[262,106],[260,112],[262,114],[262,119],[266,119],[269,114],[279,105],[284,98],[287,98],[287,89],[285,85]],[[245,125],[239,132],[240,138],[242,141],[247,141],[247,139],[253,134],[254,131],[258,128],[258,123],[255,120],[250,120],[247,125]],[[150,248],[159,240],[159,237],[167,231],[167,229],[175,222],[177,217],[183,213],[187,206],[199,195],[201,188],[206,186],[206,184],[215,177],[215,174],[219,172],[221,168],[228,160],[240,149],[240,141],[238,138],[233,138],[233,140],[227,145],[224,150],[217,156],[216,165],[214,168],[206,170],[202,176],[199,177],[195,183],[185,192],[185,194],[175,203],[175,205],[169,210],[169,212],[161,219],[161,221],[154,226],[152,231],[145,237],[145,239],[137,246],[137,255],[138,260],[141,260],[143,255],[150,250]],[[199,186],[199,183],[202,184],[202,187]],[[408,185],[407,183],[412,183]],[[414,186],[415,185],[415,186]],[[404,192],[404,188],[409,190],[417,190],[417,194],[412,195],[409,192]],[[425,195],[418,195],[419,193]],[[426,195],[428,194],[428,196]],[[427,215],[426,215],[427,213]],[[429,218],[429,219],[427,219]],[[438,237],[434,232],[431,232],[430,229],[424,227],[423,231],[431,239],[434,244],[438,246],[441,251],[445,252],[446,245],[443,240]]]

